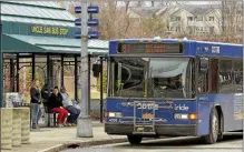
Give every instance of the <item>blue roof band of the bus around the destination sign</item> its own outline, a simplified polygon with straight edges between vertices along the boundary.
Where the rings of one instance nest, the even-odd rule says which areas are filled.
[[[179,51],[175,54],[183,55],[214,55],[214,57],[237,57],[241,58],[243,55],[243,44],[235,43],[223,43],[223,42],[211,42],[211,41],[196,41],[196,40],[183,40],[183,39],[119,39],[109,41],[109,55],[110,54],[123,54],[117,52],[118,43],[183,43],[184,49],[183,53],[180,53],[180,49],[175,50]],[[179,47],[180,48],[180,47]],[[134,54],[135,50],[126,50],[125,53]],[[140,54],[145,53],[144,51],[152,51],[150,49],[140,48]],[[173,51],[174,52],[174,51]],[[169,49],[168,52],[164,52],[160,54],[170,54],[173,53]],[[138,53],[138,52],[137,52]],[[158,50],[154,53],[158,53]],[[138,53],[139,54],[139,53]],[[153,54],[150,52],[150,54]]]

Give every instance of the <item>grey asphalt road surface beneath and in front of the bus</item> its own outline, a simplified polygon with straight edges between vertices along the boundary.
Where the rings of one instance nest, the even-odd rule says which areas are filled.
[[[139,145],[129,143],[108,144],[62,152],[242,152],[242,133],[227,133],[216,144],[203,144],[198,138],[169,138],[143,141]]]

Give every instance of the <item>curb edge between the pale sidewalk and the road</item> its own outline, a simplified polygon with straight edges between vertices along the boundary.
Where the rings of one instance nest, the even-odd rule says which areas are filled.
[[[57,144],[57,145],[50,146],[48,149],[45,149],[38,152],[59,152],[59,151],[66,150],[69,145],[76,145],[78,148],[86,148],[86,146],[92,146],[92,145],[123,143],[127,141],[128,141],[127,139],[109,139],[109,140],[97,140],[97,141],[95,140],[95,141],[86,141],[86,142],[70,142],[70,143]]]

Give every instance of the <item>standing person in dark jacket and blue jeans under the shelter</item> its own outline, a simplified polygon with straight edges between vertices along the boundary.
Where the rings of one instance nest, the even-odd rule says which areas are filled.
[[[41,118],[41,91],[39,89],[38,80],[32,81],[30,88],[30,99],[32,129],[36,129]]]

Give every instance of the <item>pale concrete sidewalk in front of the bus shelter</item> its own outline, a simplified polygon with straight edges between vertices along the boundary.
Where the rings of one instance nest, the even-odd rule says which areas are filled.
[[[77,128],[40,128],[30,132],[30,144],[22,144],[12,150],[2,150],[2,152],[38,152],[57,144],[106,141],[115,139],[125,139],[126,136],[107,135],[104,131],[104,124],[92,123],[94,138],[76,138]]]

